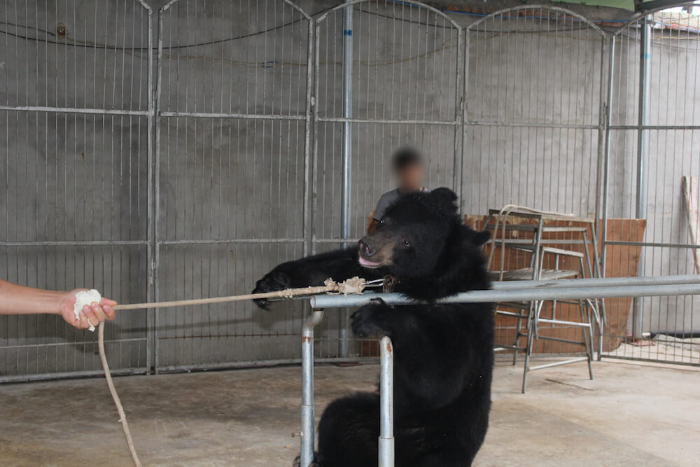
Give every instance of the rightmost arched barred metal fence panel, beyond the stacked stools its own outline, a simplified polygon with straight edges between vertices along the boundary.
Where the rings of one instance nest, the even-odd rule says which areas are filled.
[[[638,263],[640,275],[697,274],[697,184],[700,177],[700,30],[692,17],[658,12],[640,16],[611,38],[606,132],[604,244],[608,270]],[[694,238],[693,238],[694,237]],[[700,307],[693,296],[638,298],[612,307],[605,356],[700,365]],[[629,318],[627,314],[629,313]],[[614,326],[617,323],[617,326]]]

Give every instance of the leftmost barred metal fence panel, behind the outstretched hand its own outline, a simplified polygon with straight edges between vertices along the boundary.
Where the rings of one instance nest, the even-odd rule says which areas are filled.
[[[151,8],[52,5],[0,6],[0,275],[149,300]],[[116,373],[150,367],[148,332],[136,313],[106,328]],[[59,316],[1,316],[0,382],[101,373],[96,339]]]

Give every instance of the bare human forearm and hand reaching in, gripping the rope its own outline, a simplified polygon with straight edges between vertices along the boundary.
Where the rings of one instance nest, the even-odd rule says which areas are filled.
[[[90,324],[97,326],[105,319],[112,320],[116,314],[114,300],[102,298],[99,303],[85,305],[80,312],[80,319],[73,313],[76,293],[85,291],[76,288],[73,291],[46,291],[41,288],[18,286],[0,279],[0,315],[3,314],[58,314],[66,323],[78,329],[87,329]]]

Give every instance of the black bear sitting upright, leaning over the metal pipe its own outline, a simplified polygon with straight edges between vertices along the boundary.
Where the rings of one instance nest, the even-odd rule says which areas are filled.
[[[447,188],[398,199],[358,248],[283,263],[254,292],[323,284],[328,277],[393,278],[416,305],[382,300],[351,316],[357,337],[388,335],[394,347],[395,464],[469,466],[484,441],[491,407],[493,305],[440,305],[439,298],[490,287],[482,245],[463,225]],[[267,302],[258,301],[263,308]],[[377,465],[379,395],[334,400],[318,424],[316,466]]]

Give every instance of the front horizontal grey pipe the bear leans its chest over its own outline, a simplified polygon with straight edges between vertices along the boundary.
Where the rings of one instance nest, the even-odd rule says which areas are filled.
[[[579,279],[582,280],[582,279]],[[576,300],[582,298],[658,297],[666,295],[700,295],[700,284],[662,284],[643,286],[541,287],[514,290],[482,290],[458,293],[437,300],[437,303],[481,303],[533,300]],[[381,298],[388,305],[415,305],[416,301],[400,293],[363,293],[358,295],[314,295],[312,308],[361,307],[372,298]]]

